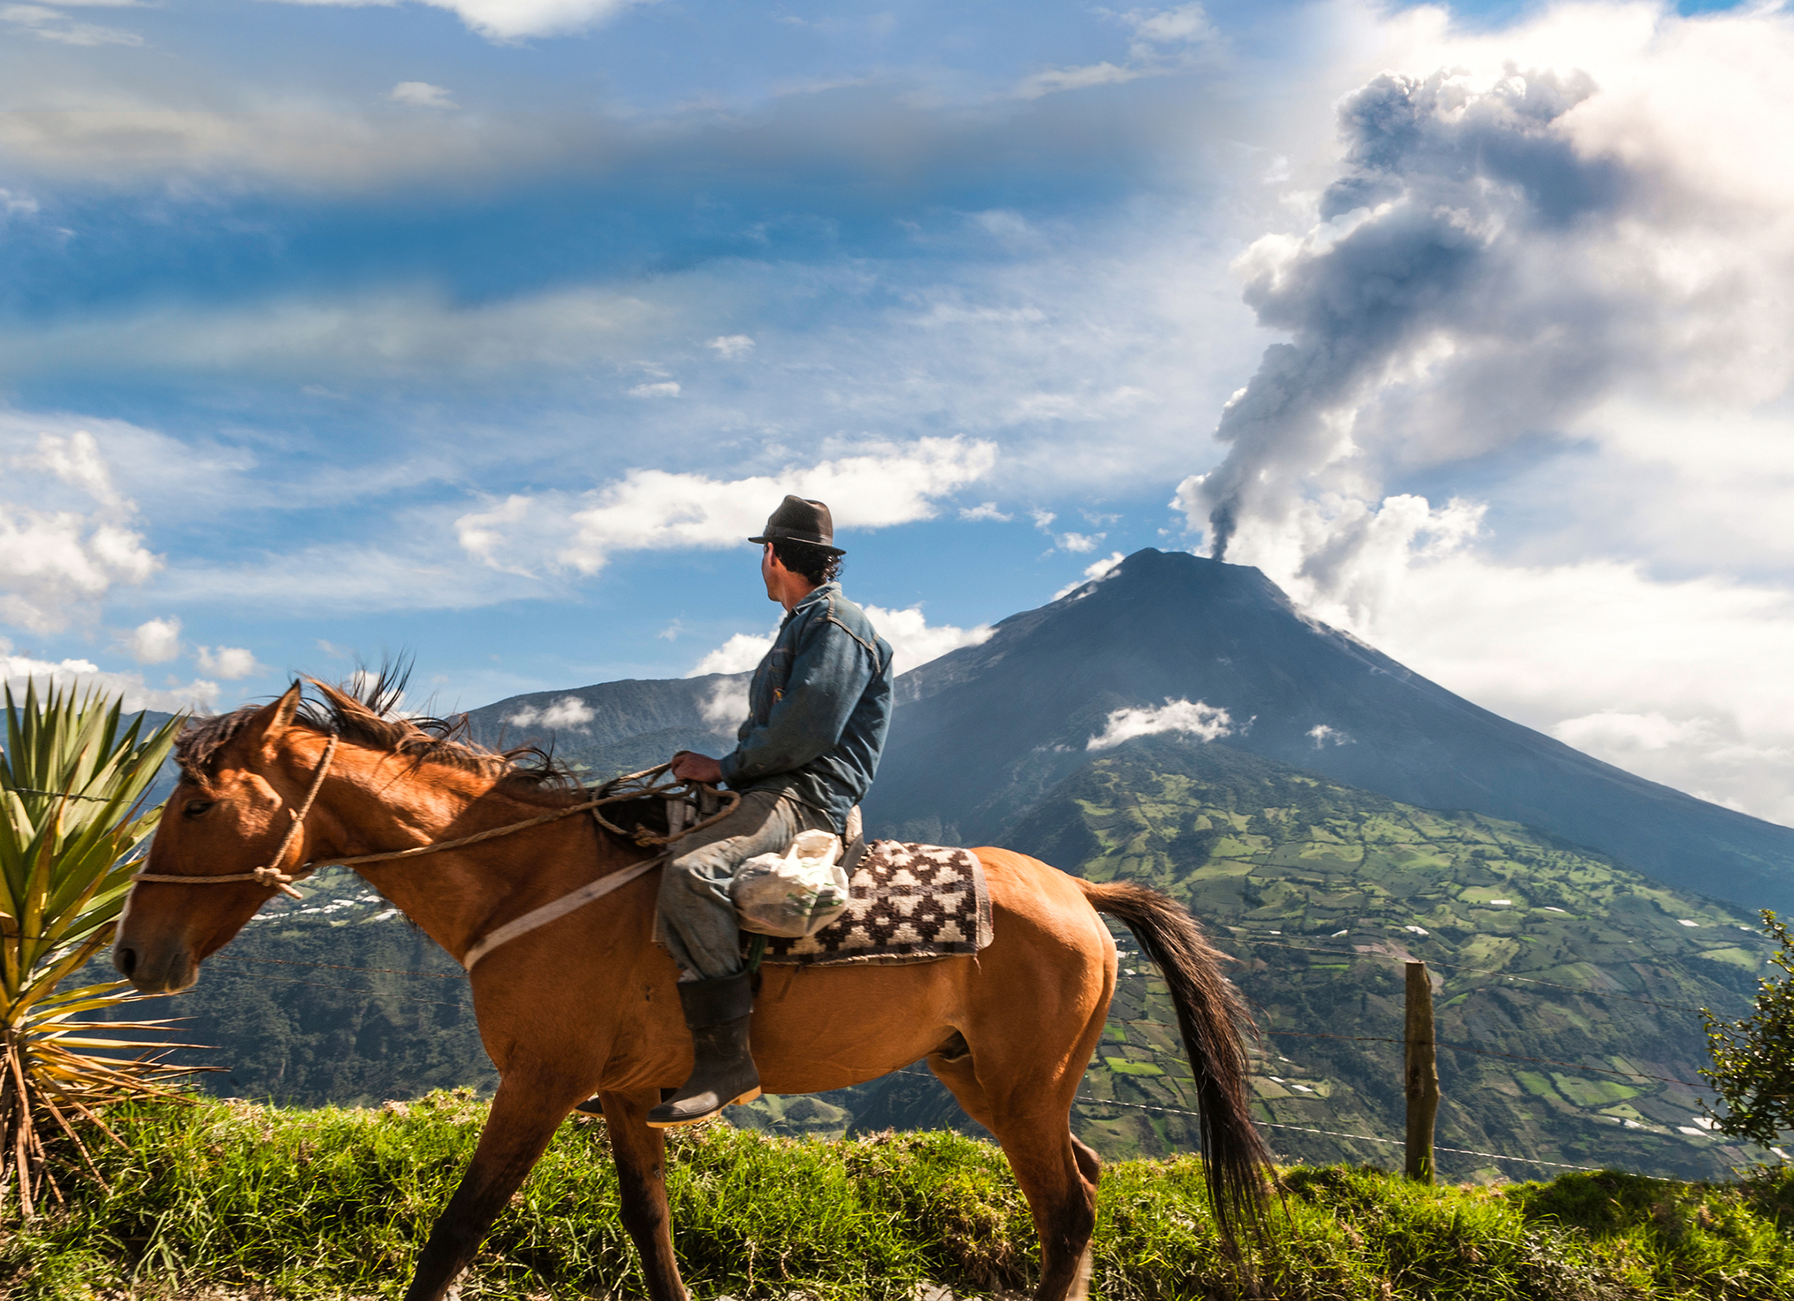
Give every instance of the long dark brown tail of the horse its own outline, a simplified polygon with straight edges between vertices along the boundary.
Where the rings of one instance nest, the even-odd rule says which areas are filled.
[[[1204,1179],[1222,1236],[1234,1242],[1241,1226],[1258,1227],[1265,1209],[1270,1148],[1250,1111],[1250,1062],[1245,1032],[1258,1026],[1240,991],[1222,976],[1225,955],[1215,949],[1175,899],[1130,881],[1078,879],[1096,912],[1119,917],[1171,987],[1177,1028],[1197,1075],[1197,1122]]]

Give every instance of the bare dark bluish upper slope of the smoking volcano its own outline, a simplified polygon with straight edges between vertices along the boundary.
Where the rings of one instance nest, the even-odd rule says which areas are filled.
[[[1589,845],[1667,885],[1794,910],[1794,829],[1649,782],[1491,714],[1304,617],[1259,571],[1139,551],[899,680],[874,825],[1001,842],[1116,709],[1225,709],[1222,743],[1421,808]],[[1317,736],[1315,729],[1329,729]]]

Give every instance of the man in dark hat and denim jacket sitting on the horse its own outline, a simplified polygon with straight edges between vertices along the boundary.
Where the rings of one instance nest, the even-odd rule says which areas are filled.
[[[892,714],[892,648],[834,581],[841,556],[820,501],[786,497],[766,520],[761,578],[786,608],[773,646],[753,669],[748,718],[723,759],[691,750],[673,775],[727,782],[741,806],[678,842],[660,878],[657,939],[680,967],[691,1028],[691,1078],[648,1113],[657,1129],[689,1125],[761,1095],[748,1052],[752,974],[730,886],[755,854],[784,852],[800,831],[847,838],[847,818],[872,786]]]

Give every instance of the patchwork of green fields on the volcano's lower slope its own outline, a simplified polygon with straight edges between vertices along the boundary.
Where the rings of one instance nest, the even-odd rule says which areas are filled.
[[[1412,956],[1435,974],[1441,1044],[1460,1046],[1441,1050],[1441,1145],[1690,1177],[1764,1156],[1699,1123],[1697,1008],[1737,1016],[1769,971],[1769,942],[1729,904],[1512,822],[1177,741],[1098,759],[1015,840],[1091,879],[1166,890],[1241,960],[1236,980],[1270,1032],[1254,1080],[1261,1116],[1292,1127],[1272,1132],[1281,1152],[1392,1159],[1385,1145],[1302,1129],[1403,1132],[1401,1044],[1374,1041],[1401,1035]],[[1188,1107],[1163,985],[1137,955],[1123,967],[1085,1093]],[[1116,1152],[1191,1141],[1188,1118],[1163,1111],[1084,1116]],[[1548,1170],[1460,1154],[1442,1154],[1441,1168],[1466,1179]]]

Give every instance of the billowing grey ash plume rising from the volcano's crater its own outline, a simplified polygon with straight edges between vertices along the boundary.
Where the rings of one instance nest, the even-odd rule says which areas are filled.
[[[1554,427],[1613,370],[1624,303],[1561,257],[1627,203],[1625,170],[1577,151],[1582,74],[1387,72],[1346,97],[1346,174],[1301,242],[1245,257],[1245,300],[1288,334],[1225,406],[1231,445],[1179,504],[1224,558],[1286,519],[1328,467],[1476,456]]]

